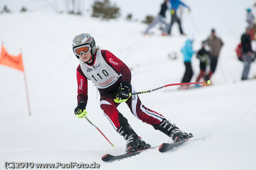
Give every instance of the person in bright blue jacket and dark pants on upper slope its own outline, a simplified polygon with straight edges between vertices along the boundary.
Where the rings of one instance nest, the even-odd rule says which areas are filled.
[[[172,24],[174,22],[177,22],[179,24],[180,34],[186,35],[186,34],[184,34],[183,29],[181,27],[180,17],[177,16],[177,9],[178,9],[179,5],[183,5],[183,6],[187,7],[189,9],[189,11],[190,11],[190,8],[187,5],[185,5],[184,3],[180,2],[180,0],[170,0],[170,3],[171,3],[172,8],[171,8],[171,23],[167,29],[168,34],[171,35]]]

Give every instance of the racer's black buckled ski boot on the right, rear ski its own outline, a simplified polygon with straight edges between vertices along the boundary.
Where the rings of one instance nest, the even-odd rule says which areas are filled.
[[[183,133],[175,124],[171,124],[170,121],[166,119],[164,119],[158,127],[155,126],[154,128],[170,136],[174,142],[183,141],[192,136],[191,133],[189,133],[189,135]]]

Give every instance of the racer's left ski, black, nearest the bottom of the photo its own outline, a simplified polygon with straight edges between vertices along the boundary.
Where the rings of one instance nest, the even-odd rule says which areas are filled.
[[[156,147],[159,147],[159,146],[156,146]],[[138,154],[140,154],[141,152],[143,152],[145,150],[153,149],[153,148],[156,148],[156,147],[150,147],[148,149],[141,149],[141,150],[134,150],[130,153],[125,153],[125,154],[116,155],[116,156],[106,154],[106,155],[102,156],[102,161],[109,162],[109,161],[120,160],[120,159],[123,159],[123,158],[128,158],[128,157],[131,157],[131,156],[138,155]]]

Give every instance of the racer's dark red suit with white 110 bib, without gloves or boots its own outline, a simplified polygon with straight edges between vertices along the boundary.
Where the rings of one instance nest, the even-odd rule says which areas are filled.
[[[131,84],[131,71],[119,58],[107,50],[97,50],[91,65],[80,61],[77,67],[78,103],[81,101],[87,105],[87,80],[96,84],[100,93],[100,107],[111,122],[115,130],[121,125],[119,111],[116,107],[119,103],[113,101],[118,87],[122,81]],[[131,85],[131,93],[136,92]],[[140,120],[152,126],[159,125],[164,117],[151,109],[146,108],[138,95],[132,95],[126,102],[131,112]]]

